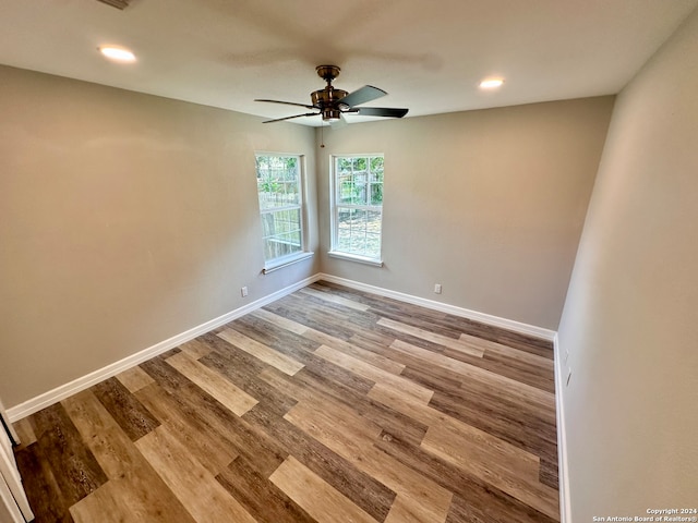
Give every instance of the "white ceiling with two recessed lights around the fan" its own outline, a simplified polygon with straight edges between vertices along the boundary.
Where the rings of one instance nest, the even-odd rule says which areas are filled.
[[[408,117],[618,93],[698,0],[0,0],[0,63],[269,118],[335,86]],[[134,64],[97,47],[131,48]],[[482,93],[485,76],[504,76]],[[0,77],[1,82],[1,77]],[[354,117],[361,120],[362,117]],[[365,119],[365,118],[364,118]],[[320,117],[298,123],[320,124]]]

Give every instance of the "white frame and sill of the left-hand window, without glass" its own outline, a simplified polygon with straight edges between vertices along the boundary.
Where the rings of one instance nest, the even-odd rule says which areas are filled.
[[[288,205],[288,206],[284,206],[284,207],[275,207],[273,209],[273,211],[284,211],[284,210],[294,210],[298,209],[300,211],[300,233],[301,233],[301,250],[298,253],[291,253],[288,255],[284,255],[284,256],[279,256],[276,258],[270,258],[270,259],[266,259],[266,255],[264,255],[265,259],[264,259],[264,268],[262,269],[263,273],[268,273],[268,272],[273,272],[277,269],[280,269],[282,267],[286,267],[288,265],[291,264],[296,264],[298,262],[302,262],[303,259],[310,258],[311,256],[313,256],[312,252],[308,251],[308,206],[305,203],[305,195],[306,195],[306,187],[305,187],[305,157],[304,155],[299,155],[299,154],[294,154],[294,153],[275,153],[275,151],[266,151],[266,150],[261,150],[261,151],[255,151],[254,154],[254,158],[255,158],[255,168],[254,168],[254,175],[255,179],[257,177],[257,169],[256,169],[256,162],[257,162],[257,158],[260,157],[279,157],[279,158],[297,158],[298,159],[298,192],[299,192],[299,199],[300,202],[298,204],[293,204],[293,205]],[[266,212],[272,211],[270,209],[262,209],[262,206],[260,204],[260,192],[257,188],[257,206],[260,209],[260,221],[262,222],[262,250],[264,253],[264,215]]]

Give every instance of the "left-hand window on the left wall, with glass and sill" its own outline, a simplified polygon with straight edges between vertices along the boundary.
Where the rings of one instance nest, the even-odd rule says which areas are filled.
[[[256,155],[265,272],[303,259],[303,184],[300,156]]]

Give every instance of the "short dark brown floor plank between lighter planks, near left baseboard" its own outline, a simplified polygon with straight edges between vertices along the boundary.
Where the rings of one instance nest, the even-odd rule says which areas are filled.
[[[160,424],[116,378],[95,385],[92,391],[133,441]]]

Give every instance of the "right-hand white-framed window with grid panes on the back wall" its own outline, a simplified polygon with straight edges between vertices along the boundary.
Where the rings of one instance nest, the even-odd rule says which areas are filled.
[[[335,156],[332,256],[382,265],[383,155]]]

